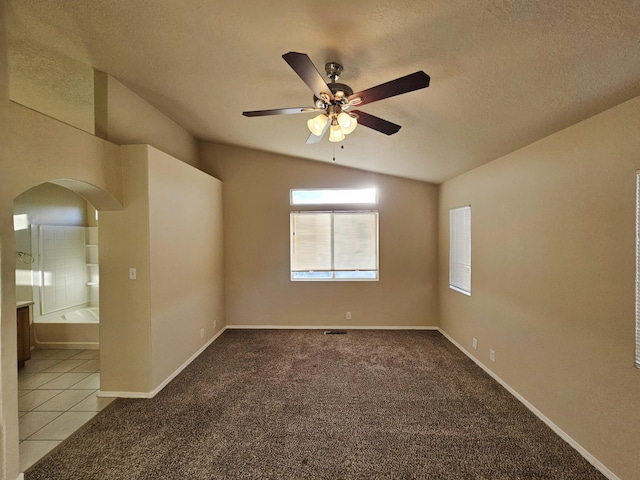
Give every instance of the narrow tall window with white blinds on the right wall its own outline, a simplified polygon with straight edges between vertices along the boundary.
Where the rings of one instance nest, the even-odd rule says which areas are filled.
[[[449,287],[471,295],[471,206],[449,210]]]

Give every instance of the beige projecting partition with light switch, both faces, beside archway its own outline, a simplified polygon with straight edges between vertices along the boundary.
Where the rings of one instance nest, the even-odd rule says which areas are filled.
[[[121,148],[125,208],[100,214],[100,389],[149,396],[224,327],[222,184]]]

